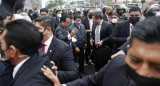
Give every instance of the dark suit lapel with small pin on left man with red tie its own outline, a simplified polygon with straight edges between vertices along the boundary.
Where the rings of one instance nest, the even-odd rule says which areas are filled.
[[[55,51],[56,44],[57,44],[56,37],[53,36],[52,42],[51,42],[51,44],[48,48],[48,52],[47,52],[47,55],[49,56],[49,59],[51,59],[50,57],[52,57],[52,54]]]

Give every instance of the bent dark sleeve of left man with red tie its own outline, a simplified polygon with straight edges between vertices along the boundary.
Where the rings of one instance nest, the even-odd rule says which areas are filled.
[[[79,74],[74,62],[72,48],[68,46],[63,52],[61,61],[63,71],[58,71],[58,78],[60,81],[63,81],[61,83],[66,83],[79,78]]]

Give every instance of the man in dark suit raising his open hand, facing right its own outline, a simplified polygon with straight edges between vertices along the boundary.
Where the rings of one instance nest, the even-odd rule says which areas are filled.
[[[67,15],[63,15],[60,19],[60,24],[55,30],[55,37],[63,40],[68,45],[72,43],[72,37],[77,33],[77,29],[74,28],[71,33],[69,33],[70,18]]]

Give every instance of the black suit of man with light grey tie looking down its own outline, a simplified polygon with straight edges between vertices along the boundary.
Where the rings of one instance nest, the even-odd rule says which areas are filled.
[[[92,28],[92,36],[91,39],[95,40],[95,29],[96,25],[93,24]],[[112,33],[112,24],[108,23],[106,21],[102,22],[101,30],[100,30],[100,41],[103,41],[102,46],[108,46],[111,47],[111,44],[109,42],[109,36]],[[96,48],[95,43],[93,44],[93,54],[98,52],[98,49]],[[105,51],[101,51],[101,53],[106,53]],[[107,64],[110,57],[100,57],[97,55],[94,55],[95,58],[95,69],[98,71],[101,69],[105,64]]]

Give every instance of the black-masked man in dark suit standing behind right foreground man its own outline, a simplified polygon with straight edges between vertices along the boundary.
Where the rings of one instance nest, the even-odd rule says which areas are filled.
[[[141,9],[139,7],[132,7],[129,11],[128,20],[119,22],[115,26],[111,35],[112,43],[114,43],[112,54],[115,54],[118,51],[117,48],[130,38],[132,28],[139,22],[140,18]]]

